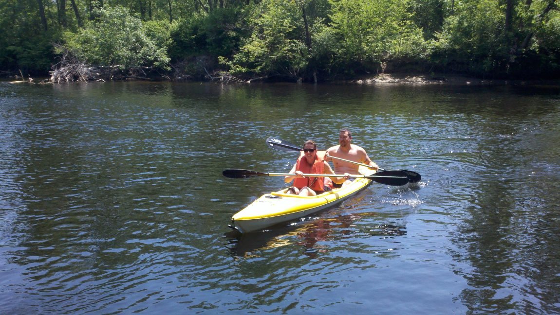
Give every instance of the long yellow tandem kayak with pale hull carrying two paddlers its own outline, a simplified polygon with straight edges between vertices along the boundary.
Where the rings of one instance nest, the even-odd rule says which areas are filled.
[[[362,175],[374,175],[375,171],[360,167]],[[230,228],[241,233],[262,231],[274,224],[305,217],[317,211],[337,205],[365,189],[372,183],[368,178],[356,178],[342,188],[323,192],[317,196],[298,196],[286,194],[283,189],[264,194],[231,218]]]

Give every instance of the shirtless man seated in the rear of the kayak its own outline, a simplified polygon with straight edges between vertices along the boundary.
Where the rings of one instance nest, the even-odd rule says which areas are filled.
[[[358,172],[358,168],[360,168],[360,166],[358,166],[358,164],[354,164],[346,161],[340,161],[338,159],[332,159],[329,158],[329,156],[343,158],[357,163],[367,164],[370,166],[372,170],[377,171],[379,167],[377,166],[377,164],[371,161],[370,157],[367,156],[366,151],[362,147],[359,147],[356,144],[352,144],[351,142],[352,142],[352,133],[350,132],[350,130],[340,129],[340,133],[338,135],[339,145],[335,145],[334,147],[331,147],[326,151],[325,161],[327,162],[333,161],[334,171],[338,174],[349,173],[352,175],[358,175],[360,174]],[[342,184],[344,184],[344,182],[342,182]],[[342,187],[342,184],[337,184],[335,182],[333,183],[333,187],[340,188]]]

